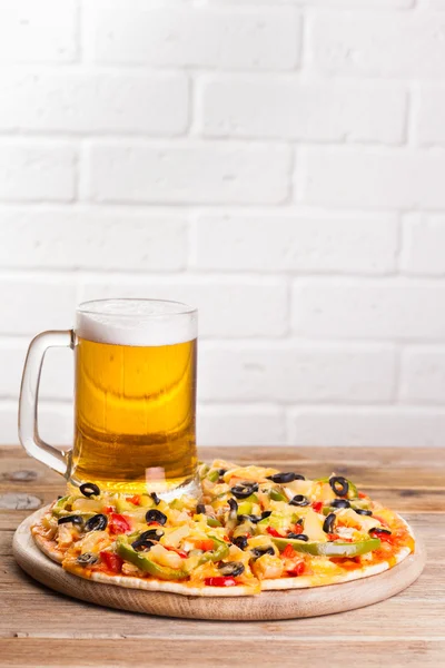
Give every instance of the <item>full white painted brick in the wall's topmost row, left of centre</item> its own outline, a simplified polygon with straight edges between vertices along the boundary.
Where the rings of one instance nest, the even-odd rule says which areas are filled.
[[[90,3],[87,48],[98,62],[293,69],[300,23],[291,8]]]

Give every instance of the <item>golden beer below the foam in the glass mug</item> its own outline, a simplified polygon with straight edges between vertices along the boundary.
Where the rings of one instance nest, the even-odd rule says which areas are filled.
[[[195,474],[196,340],[132,346],[79,338],[71,480],[168,491]]]

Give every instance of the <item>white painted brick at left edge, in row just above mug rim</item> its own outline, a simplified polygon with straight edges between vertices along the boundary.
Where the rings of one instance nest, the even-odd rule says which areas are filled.
[[[0,267],[178,271],[187,223],[175,213],[128,209],[0,209]]]

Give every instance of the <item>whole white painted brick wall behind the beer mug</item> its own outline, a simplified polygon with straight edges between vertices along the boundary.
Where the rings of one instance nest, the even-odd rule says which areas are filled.
[[[200,310],[199,443],[443,444],[444,10],[0,0],[0,442],[37,332],[151,296]]]

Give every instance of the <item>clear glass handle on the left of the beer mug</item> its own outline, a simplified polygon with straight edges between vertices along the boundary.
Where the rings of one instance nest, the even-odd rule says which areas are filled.
[[[38,430],[37,404],[44,353],[49,347],[75,348],[72,330],[42,332],[30,343],[24,362],[19,401],[19,438],[29,455],[65,478],[69,474],[68,452],[42,441]]]

